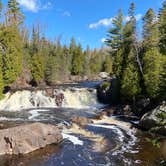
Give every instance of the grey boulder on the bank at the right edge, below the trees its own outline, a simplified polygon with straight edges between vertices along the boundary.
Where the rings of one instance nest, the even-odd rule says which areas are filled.
[[[151,112],[146,113],[140,126],[146,130],[166,136],[166,105],[157,107]]]

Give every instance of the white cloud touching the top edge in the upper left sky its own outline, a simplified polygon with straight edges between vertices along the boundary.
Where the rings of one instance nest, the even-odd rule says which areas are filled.
[[[40,0],[18,0],[18,2],[25,9],[32,12],[38,12],[42,9],[48,9],[52,5],[50,1],[48,1],[45,4],[42,4]]]

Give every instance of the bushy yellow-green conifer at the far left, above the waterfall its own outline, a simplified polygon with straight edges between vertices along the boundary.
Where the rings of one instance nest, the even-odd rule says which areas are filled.
[[[15,26],[3,28],[1,39],[6,49],[2,57],[3,79],[6,86],[10,86],[22,71],[22,42],[19,30]]]

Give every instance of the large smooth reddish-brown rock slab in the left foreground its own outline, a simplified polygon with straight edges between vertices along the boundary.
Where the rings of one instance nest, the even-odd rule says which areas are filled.
[[[27,154],[62,139],[56,126],[42,123],[0,130],[0,155]]]

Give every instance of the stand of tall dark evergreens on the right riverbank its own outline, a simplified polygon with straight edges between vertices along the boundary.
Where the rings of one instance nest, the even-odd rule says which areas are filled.
[[[158,14],[150,8],[143,16],[142,38],[137,37],[134,3],[128,16],[126,22],[119,10],[106,40],[120,96],[128,101],[166,99],[166,1]]]

